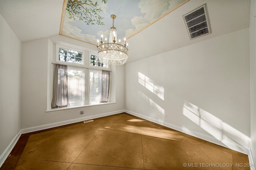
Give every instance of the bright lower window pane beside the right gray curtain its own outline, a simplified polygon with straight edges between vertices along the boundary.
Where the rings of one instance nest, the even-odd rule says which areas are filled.
[[[90,71],[90,104],[100,103],[101,89],[101,72]]]

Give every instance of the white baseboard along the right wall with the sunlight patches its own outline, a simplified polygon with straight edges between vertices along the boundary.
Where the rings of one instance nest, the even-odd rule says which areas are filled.
[[[237,152],[241,152],[243,154],[247,154],[249,156],[250,154],[250,148],[246,148],[246,147],[243,147],[241,145],[236,145],[234,143],[230,143],[228,141],[224,141],[224,140],[220,140],[220,139],[216,139],[214,137],[211,137],[211,136],[208,136],[208,135],[204,135],[202,133],[198,133],[198,132],[195,132],[195,131],[186,131],[186,129],[182,128],[182,127],[179,127],[179,126],[176,126],[176,125],[173,125],[171,123],[167,123],[167,122],[164,122],[164,121],[160,121],[158,119],[154,119],[152,117],[148,117],[148,116],[145,116],[145,115],[141,115],[139,113],[135,113],[133,111],[129,111],[129,110],[125,110],[126,113],[129,113],[131,115],[134,115],[134,116],[137,116],[137,117],[140,117],[140,118],[143,118],[143,119],[146,119],[148,121],[152,121],[154,123],[157,123],[157,124],[160,124],[160,125],[163,125],[163,126],[166,126],[166,127],[169,127],[171,129],[174,129],[176,131],[180,131],[182,133],[186,133],[188,135],[191,135],[191,136],[194,136],[194,137],[197,137],[197,138],[200,138],[200,139],[203,139],[205,141],[208,141],[210,143],[214,143],[216,145],[220,145],[222,147],[225,147],[225,148],[228,148],[228,149],[232,149],[232,150],[235,150]],[[226,145],[225,145],[226,144]],[[249,159],[250,163],[252,163],[253,159]]]

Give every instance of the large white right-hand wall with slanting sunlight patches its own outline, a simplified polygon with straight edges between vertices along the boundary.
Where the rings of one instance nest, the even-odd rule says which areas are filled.
[[[246,153],[250,147],[249,59],[249,29],[242,29],[128,63],[126,109]]]

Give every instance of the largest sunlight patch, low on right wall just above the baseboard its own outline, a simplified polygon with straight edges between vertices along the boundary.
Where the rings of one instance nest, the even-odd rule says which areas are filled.
[[[228,147],[232,146],[234,149],[231,143],[250,147],[248,136],[190,102],[184,102],[183,115]]]

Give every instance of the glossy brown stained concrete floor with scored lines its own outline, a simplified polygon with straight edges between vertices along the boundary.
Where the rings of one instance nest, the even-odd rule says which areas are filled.
[[[0,170],[245,170],[248,155],[127,113],[24,134]]]

